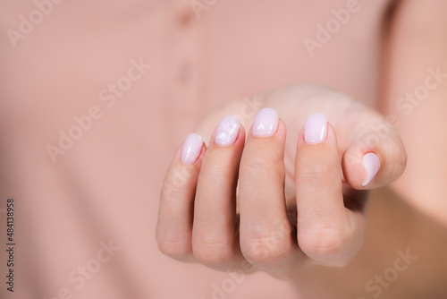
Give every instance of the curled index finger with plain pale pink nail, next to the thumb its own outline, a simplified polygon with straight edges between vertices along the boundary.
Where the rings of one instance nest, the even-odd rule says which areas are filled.
[[[318,263],[342,266],[363,243],[364,218],[346,209],[336,134],[325,115],[309,115],[295,158],[299,248]]]

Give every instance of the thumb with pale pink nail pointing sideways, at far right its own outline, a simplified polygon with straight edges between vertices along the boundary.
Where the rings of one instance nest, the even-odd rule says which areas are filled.
[[[399,134],[378,113],[370,112],[367,124],[352,132],[353,139],[343,154],[346,182],[363,190],[391,184],[407,163],[407,153]]]

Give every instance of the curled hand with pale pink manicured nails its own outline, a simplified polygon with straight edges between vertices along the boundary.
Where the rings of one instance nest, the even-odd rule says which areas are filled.
[[[405,168],[399,135],[374,110],[317,86],[273,90],[262,103],[247,141],[248,119],[226,116],[208,147],[198,134],[181,145],[162,188],[160,250],[284,279],[346,265],[365,236],[367,190]]]

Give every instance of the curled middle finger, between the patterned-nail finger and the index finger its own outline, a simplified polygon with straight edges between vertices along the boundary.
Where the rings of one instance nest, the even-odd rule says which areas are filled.
[[[257,269],[274,276],[300,262],[284,200],[286,128],[274,109],[259,111],[240,162],[240,247]]]

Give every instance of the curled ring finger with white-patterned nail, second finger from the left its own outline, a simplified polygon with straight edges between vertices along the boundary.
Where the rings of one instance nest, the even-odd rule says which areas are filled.
[[[192,251],[208,267],[240,267],[236,185],[245,131],[237,117],[223,117],[215,130],[198,175]]]

